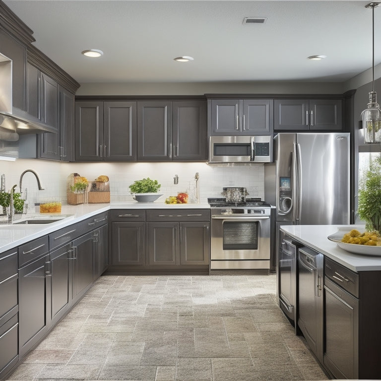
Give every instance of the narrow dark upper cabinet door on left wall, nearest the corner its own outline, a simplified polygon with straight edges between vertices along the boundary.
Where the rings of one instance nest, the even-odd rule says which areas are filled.
[[[74,94],[59,86],[59,146],[61,161],[71,161],[73,158],[74,135]]]

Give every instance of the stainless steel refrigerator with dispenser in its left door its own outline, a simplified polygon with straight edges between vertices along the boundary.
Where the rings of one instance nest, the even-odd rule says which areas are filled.
[[[279,133],[274,150],[277,230],[350,223],[349,133]]]

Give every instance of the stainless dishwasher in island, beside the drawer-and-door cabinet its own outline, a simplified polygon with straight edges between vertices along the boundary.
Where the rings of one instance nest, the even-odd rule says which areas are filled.
[[[299,248],[298,326],[311,350],[323,362],[323,254]]]

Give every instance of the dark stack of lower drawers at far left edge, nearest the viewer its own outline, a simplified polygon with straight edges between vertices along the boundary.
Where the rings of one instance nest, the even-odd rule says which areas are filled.
[[[0,379],[18,361],[17,249],[0,254]]]

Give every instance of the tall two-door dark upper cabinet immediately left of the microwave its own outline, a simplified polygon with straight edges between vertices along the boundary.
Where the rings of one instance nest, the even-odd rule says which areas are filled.
[[[206,160],[204,101],[138,101],[138,161]]]

